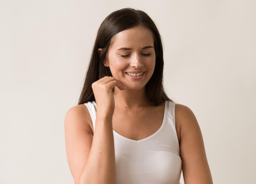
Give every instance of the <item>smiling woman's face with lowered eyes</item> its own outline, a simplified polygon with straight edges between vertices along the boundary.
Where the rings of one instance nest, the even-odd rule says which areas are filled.
[[[126,89],[146,86],[155,69],[155,48],[152,32],[142,26],[119,32],[112,38],[104,62],[112,76]]]

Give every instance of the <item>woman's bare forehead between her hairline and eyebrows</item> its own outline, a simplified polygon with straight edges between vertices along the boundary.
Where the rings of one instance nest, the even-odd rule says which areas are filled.
[[[145,47],[154,46],[154,37],[150,29],[137,26],[126,29],[113,36],[110,47]]]

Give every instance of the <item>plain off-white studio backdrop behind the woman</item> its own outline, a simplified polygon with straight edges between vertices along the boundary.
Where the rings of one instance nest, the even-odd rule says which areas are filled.
[[[255,184],[255,0],[0,0],[0,183],[73,183],[65,113],[99,25],[124,7],[156,22],[165,89],[195,113],[213,182]]]

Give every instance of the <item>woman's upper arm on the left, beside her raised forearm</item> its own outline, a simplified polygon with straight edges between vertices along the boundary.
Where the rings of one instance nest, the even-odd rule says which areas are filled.
[[[67,161],[74,181],[78,181],[92,146],[92,122],[85,105],[77,105],[65,116]]]

